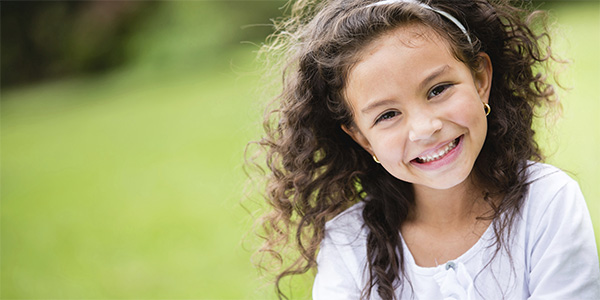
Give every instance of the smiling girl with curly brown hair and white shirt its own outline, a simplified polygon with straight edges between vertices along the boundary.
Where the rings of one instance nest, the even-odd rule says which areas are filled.
[[[583,196],[533,139],[555,94],[531,16],[501,0],[296,3],[259,142],[280,297],[316,268],[314,299],[600,299]]]

